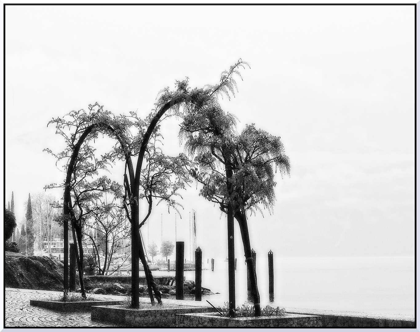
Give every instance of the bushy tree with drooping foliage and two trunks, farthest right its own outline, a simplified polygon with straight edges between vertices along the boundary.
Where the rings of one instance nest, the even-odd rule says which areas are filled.
[[[203,184],[200,195],[219,204],[227,214],[229,261],[234,259],[233,218],[239,223],[251,277],[255,315],[259,316],[260,296],[252,261],[247,211],[259,209],[258,204],[269,209],[274,204],[273,166],[283,173],[289,172],[289,159],[284,155],[280,138],[257,130],[254,125],[247,126],[241,135],[237,135],[234,117],[223,112],[217,102],[201,112],[187,115],[181,126],[181,135],[186,138],[189,154],[195,155],[197,167],[192,169],[192,176]],[[233,274],[234,281],[233,264],[229,265],[229,277]],[[230,278],[229,309],[230,315],[234,316],[231,285]]]

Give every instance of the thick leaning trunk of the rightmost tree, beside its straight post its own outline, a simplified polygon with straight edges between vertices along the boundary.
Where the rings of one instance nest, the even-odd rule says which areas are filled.
[[[249,272],[249,278],[251,281],[252,297],[254,299],[255,316],[261,316],[260,306],[260,293],[258,293],[257,287],[257,275],[254,267],[254,260],[251,254],[251,243],[249,241],[249,231],[247,224],[247,217],[241,211],[235,211],[235,218],[239,223],[239,229],[241,230],[242,243],[244,245],[245,262],[247,263],[247,269]]]

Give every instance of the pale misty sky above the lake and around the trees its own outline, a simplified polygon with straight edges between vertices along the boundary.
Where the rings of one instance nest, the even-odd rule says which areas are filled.
[[[5,204],[13,191],[20,223],[29,193],[63,182],[42,152],[64,147],[51,118],[95,102],[145,117],[175,80],[216,84],[241,58],[250,68],[221,105],[239,131],[255,123],[281,136],[291,162],[290,177],[276,176],[274,214],[249,217],[251,246],[278,257],[414,256],[414,15],[412,5],[8,6]],[[166,154],[183,149],[178,124],[162,126]],[[122,166],[111,175],[120,183]],[[195,184],[181,194],[186,258],[192,209],[203,258],[226,256],[226,216]],[[175,241],[174,211],[158,206],[148,224],[146,242]]]

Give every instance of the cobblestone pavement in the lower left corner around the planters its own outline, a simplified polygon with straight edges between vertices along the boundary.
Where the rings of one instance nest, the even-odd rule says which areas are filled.
[[[49,300],[62,294],[45,290],[6,288],[5,327],[118,327],[90,320],[90,311],[58,312],[31,306],[29,300]]]

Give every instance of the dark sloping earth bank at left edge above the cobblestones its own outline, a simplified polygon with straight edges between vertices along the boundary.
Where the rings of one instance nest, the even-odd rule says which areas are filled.
[[[63,290],[64,265],[46,256],[25,256],[6,251],[5,287]]]

